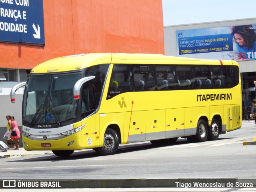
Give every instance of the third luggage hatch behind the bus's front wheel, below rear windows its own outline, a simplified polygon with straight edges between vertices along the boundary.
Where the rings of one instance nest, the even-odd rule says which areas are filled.
[[[184,136],[184,108],[166,109],[166,138]]]

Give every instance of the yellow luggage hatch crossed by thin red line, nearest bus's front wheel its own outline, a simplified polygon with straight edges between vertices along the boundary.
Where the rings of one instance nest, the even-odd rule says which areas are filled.
[[[124,112],[123,122],[124,143],[145,141],[145,111]]]

